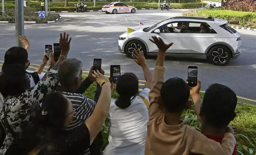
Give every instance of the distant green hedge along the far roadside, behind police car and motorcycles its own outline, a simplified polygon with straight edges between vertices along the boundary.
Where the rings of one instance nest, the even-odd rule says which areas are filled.
[[[68,3],[68,7],[64,7],[64,2],[52,2],[50,3],[50,11],[71,11],[71,10],[75,10],[74,4],[76,4],[76,2],[69,2]],[[103,5],[106,5],[106,2],[97,2],[96,3],[96,7],[93,7],[93,2],[87,2],[87,6],[90,9],[101,9]],[[126,3],[129,6],[134,6],[136,8],[158,8],[158,3],[145,3],[145,2],[127,2]],[[0,5],[2,5],[0,3]],[[14,3],[10,3],[10,2],[5,2],[5,9],[14,9],[15,8],[15,4]],[[206,6],[207,3],[204,3],[204,6]],[[25,9],[31,9],[33,11],[40,11],[41,10],[41,6],[39,2],[28,2],[27,3],[27,8]],[[190,8],[190,7],[201,7],[202,3],[172,3],[171,4],[171,8]]]

